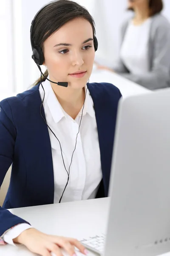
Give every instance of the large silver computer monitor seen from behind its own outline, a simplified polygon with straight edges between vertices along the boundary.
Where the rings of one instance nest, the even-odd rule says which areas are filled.
[[[121,99],[104,256],[170,251],[170,89]]]

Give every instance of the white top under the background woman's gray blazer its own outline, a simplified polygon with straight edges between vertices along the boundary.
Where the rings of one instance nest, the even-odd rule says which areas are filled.
[[[120,57],[132,74],[143,74],[149,71],[148,44],[152,18],[136,26],[130,20],[122,43]]]

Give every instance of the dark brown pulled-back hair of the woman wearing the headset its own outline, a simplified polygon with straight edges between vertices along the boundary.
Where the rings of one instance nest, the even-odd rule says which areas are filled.
[[[49,36],[54,34],[68,21],[78,17],[88,20],[91,23],[93,35],[96,35],[94,19],[85,7],[70,0],[51,1],[35,19],[32,30],[35,46],[41,47],[43,51],[43,43]],[[42,76],[42,81],[45,81],[48,77],[48,70],[45,71],[44,75],[45,78]],[[39,83],[40,78],[34,82],[33,86]]]

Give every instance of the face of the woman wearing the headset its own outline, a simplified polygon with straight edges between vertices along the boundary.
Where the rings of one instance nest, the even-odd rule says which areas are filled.
[[[68,82],[82,88],[88,82],[94,64],[94,42],[91,23],[83,18],[69,21],[44,42],[45,66],[49,79]],[[85,71],[83,76],[71,76]]]

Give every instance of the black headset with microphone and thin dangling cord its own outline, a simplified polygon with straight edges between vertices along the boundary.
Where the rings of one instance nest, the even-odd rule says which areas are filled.
[[[41,77],[40,77],[41,86],[42,86],[42,76],[44,76],[44,78],[47,79],[48,81],[50,81],[51,83],[58,84],[58,85],[64,86],[64,87],[68,87],[68,82],[54,82],[54,81],[51,81],[51,80],[49,80],[48,78],[46,78],[45,75],[42,73],[42,70],[41,70],[40,65],[42,65],[42,64],[44,63],[44,54],[43,54],[42,49],[41,49],[40,46],[35,46],[34,40],[33,40],[33,36],[32,36],[32,31],[33,31],[33,27],[34,27],[34,23],[35,23],[35,19],[36,19],[37,15],[39,15],[39,13],[42,11],[42,9],[44,9],[46,6],[48,6],[48,5],[50,5],[50,4],[51,4],[51,3],[48,3],[48,4],[46,4],[45,6],[43,6],[43,7],[37,12],[37,14],[35,15],[34,19],[33,19],[32,22],[31,22],[30,41],[31,41],[31,48],[32,48],[32,59],[34,60],[34,62],[36,63],[38,69],[40,70],[40,73],[41,73]],[[98,48],[98,41],[97,41],[96,36],[94,35],[94,50],[95,50],[95,52],[96,52],[97,48]],[[88,83],[89,83],[89,81],[88,81]],[[69,169],[68,169],[68,171],[67,171],[67,169],[66,169],[66,167],[65,167],[64,158],[63,158],[63,155],[62,155],[61,143],[60,143],[59,139],[57,138],[57,136],[54,134],[54,132],[51,130],[51,128],[49,127],[49,125],[47,124],[45,117],[42,115],[42,105],[43,105],[44,98],[45,98],[45,90],[44,90],[43,86],[42,86],[42,89],[43,89],[43,91],[44,91],[44,96],[43,96],[43,99],[42,99],[42,102],[41,102],[41,106],[40,106],[40,114],[41,114],[41,116],[42,116],[42,118],[43,118],[45,124],[48,126],[49,130],[52,132],[52,134],[54,135],[54,137],[55,137],[55,138],[58,140],[58,142],[59,142],[63,165],[64,165],[65,171],[67,172],[67,175],[68,175],[67,183],[66,183],[65,188],[64,188],[64,190],[63,190],[63,192],[62,192],[61,198],[59,199],[59,203],[61,203],[62,196],[63,196],[63,194],[64,194],[64,192],[65,192],[66,187],[68,186],[69,175],[70,175],[70,167],[71,167],[71,163],[72,163],[72,160],[73,160],[74,152],[75,152],[75,150],[76,150],[77,137],[76,137],[76,143],[75,143],[74,151],[73,151],[72,156],[71,156],[71,163],[70,163]],[[88,84],[87,84],[87,89],[88,89]],[[85,98],[86,98],[86,94],[87,94],[87,89],[86,89],[86,91],[85,91]],[[84,100],[83,107],[82,107],[82,114],[83,114],[84,106],[85,106],[85,100]],[[82,115],[81,115],[81,119],[80,119],[80,123],[79,123],[79,129],[78,129],[77,136],[78,136],[79,131],[80,131],[81,122],[82,122]]]

